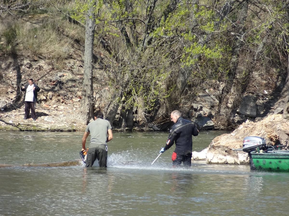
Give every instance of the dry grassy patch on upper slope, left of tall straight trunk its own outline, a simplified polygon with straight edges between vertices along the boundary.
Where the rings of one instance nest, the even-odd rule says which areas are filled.
[[[10,20],[9,25],[2,26],[0,51],[9,53],[13,47],[19,54],[51,60],[61,67],[64,59],[75,54],[75,49],[82,49],[85,40],[84,28],[69,22],[65,15],[73,4],[71,1],[61,3],[58,9],[62,13],[55,7],[31,8],[28,13]]]

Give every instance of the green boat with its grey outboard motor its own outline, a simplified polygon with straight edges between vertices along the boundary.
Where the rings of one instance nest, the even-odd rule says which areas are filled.
[[[249,136],[243,140],[243,149],[250,158],[251,170],[289,172],[289,151],[281,150],[286,145],[266,145],[262,137]]]

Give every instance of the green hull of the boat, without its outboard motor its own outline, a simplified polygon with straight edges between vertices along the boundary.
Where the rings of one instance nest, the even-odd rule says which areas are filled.
[[[251,169],[274,172],[289,172],[289,152],[274,153],[251,152]]]

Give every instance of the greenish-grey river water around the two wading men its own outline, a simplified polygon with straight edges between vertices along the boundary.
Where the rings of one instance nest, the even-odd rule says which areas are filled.
[[[200,132],[193,150],[222,133]],[[115,132],[107,168],[0,168],[0,215],[288,215],[289,173],[194,161],[172,168],[173,147],[151,165],[167,135]],[[0,131],[0,164],[79,160],[81,138]]]

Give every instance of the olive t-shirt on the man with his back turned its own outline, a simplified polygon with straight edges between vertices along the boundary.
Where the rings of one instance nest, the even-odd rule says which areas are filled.
[[[95,147],[96,144],[105,145],[109,129],[111,129],[111,126],[108,120],[97,118],[90,122],[85,130],[85,132],[90,133],[89,147]]]

